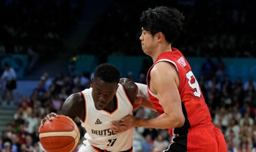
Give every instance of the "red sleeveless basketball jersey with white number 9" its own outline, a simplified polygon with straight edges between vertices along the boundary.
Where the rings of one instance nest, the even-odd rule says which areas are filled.
[[[160,105],[157,95],[154,95],[150,90],[150,72],[155,64],[165,61],[174,65],[177,68],[180,86],[179,93],[182,102],[182,111],[185,116],[185,123],[180,128],[169,128],[168,132],[171,136],[181,135],[188,132],[188,128],[210,122],[212,120],[209,109],[204,101],[201,89],[194,74],[191,71],[191,67],[183,54],[172,48],[172,51],[166,51],[159,55],[158,59],[152,65],[148,71],[147,83],[148,94],[151,102],[153,103],[158,114],[164,113],[164,109]],[[170,103],[172,104],[172,103]]]

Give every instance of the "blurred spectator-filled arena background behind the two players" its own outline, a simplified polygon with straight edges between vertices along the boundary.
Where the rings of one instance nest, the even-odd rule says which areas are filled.
[[[93,71],[73,74],[62,73],[61,70],[54,73],[46,69],[37,72],[39,75],[34,77],[30,74],[33,76],[45,61],[65,59],[68,63],[67,57],[76,54],[93,54],[98,58],[98,64],[106,62],[109,54],[144,55],[139,41],[141,13],[148,7],[167,5],[181,10],[186,17],[184,29],[173,47],[178,48],[185,57],[207,57],[200,67],[201,75],[197,81],[213,124],[225,136],[228,151],[256,152],[256,80],[251,77],[246,81],[240,78],[231,81],[221,58],[256,57],[256,1],[100,2],[0,2],[0,55],[27,54],[29,65],[23,79],[33,78],[37,81],[30,95],[15,98],[13,90],[16,89],[16,81],[19,81],[15,68],[9,64],[1,65],[0,107],[14,106],[16,113],[2,131],[0,151],[43,151],[38,134],[41,119],[51,112],[60,114],[66,98],[89,88],[90,78],[93,77]],[[91,17],[95,14],[98,15],[97,19]],[[84,23],[84,20],[88,22]],[[85,28],[87,24],[90,26]],[[218,60],[213,61],[211,57],[218,57]],[[126,77],[146,84],[150,66],[144,64],[138,75],[129,72]],[[134,111],[134,115],[144,118],[158,116],[156,112],[143,107]],[[86,131],[79,120],[76,123],[80,127],[82,144]],[[169,146],[171,140],[167,130],[135,128],[133,149],[135,152],[160,152]]]

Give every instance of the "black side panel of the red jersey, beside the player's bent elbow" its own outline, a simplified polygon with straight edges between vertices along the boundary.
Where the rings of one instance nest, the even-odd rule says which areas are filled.
[[[185,117],[185,123],[184,123],[184,125],[182,127],[175,128],[174,132],[173,132],[174,134],[179,134],[179,136],[188,133],[188,128],[191,127],[190,122],[189,122],[189,120],[187,118],[187,110],[185,108],[185,105],[182,102],[181,102],[181,107],[182,107],[183,115]]]

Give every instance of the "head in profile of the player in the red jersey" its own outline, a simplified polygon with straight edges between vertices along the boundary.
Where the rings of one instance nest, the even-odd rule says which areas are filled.
[[[160,6],[144,11],[140,18],[142,50],[148,54],[162,40],[171,44],[180,35],[183,20],[183,14],[175,8]]]

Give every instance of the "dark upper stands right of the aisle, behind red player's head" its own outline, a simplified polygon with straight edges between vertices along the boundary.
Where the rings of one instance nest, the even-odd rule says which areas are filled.
[[[113,0],[91,27],[80,53],[97,51],[102,58],[108,54],[143,55],[139,40],[141,14],[161,5],[175,7],[185,16],[184,28],[173,43],[184,54],[256,56],[256,2],[243,0]]]

